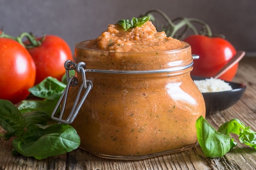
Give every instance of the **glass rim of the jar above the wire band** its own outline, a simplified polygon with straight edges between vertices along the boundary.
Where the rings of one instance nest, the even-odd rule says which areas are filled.
[[[120,73],[166,72],[183,70],[193,63],[191,46],[184,42],[182,48],[169,51],[116,52],[87,48],[90,40],[75,45],[73,60],[86,63],[88,72],[110,70]],[[186,43],[186,44],[185,44]],[[92,71],[94,70],[94,71]]]

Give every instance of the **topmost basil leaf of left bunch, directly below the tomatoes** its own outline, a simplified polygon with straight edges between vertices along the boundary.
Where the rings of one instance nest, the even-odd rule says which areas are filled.
[[[29,92],[34,96],[45,99],[59,98],[66,85],[53,77],[47,77],[38,85],[29,88]]]

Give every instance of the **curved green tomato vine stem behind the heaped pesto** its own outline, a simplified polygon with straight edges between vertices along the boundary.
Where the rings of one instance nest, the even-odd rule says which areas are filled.
[[[187,18],[187,17],[177,17],[174,20],[171,20],[163,11],[161,11],[159,9],[149,10],[143,15],[148,16],[153,12],[160,14],[167,21],[167,25],[163,26],[163,24],[159,24],[159,23],[157,23],[157,25],[158,25],[158,27],[160,27],[161,31],[165,31],[166,35],[169,37],[182,39],[183,37],[186,36],[186,34],[189,30],[192,30],[194,34],[201,34],[201,35],[206,35],[206,36],[212,37],[212,31],[211,31],[209,25],[202,20],[198,20],[196,18]],[[194,23],[202,26],[202,29],[200,32],[198,32]],[[179,34],[179,32],[182,28],[184,28],[184,29]]]

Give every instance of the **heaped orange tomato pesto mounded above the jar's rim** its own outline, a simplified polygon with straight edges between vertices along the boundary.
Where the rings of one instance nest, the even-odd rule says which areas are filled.
[[[116,52],[166,51],[184,47],[184,43],[165,32],[157,32],[151,21],[143,26],[125,31],[122,26],[110,24],[108,30],[95,40],[91,40],[88,48]]]

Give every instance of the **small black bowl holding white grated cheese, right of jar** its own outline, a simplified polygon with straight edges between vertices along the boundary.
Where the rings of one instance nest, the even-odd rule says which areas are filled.
[[[202,80],[206,79],[206,77],[198,77],[198,76],[191,76],[193,80]],[[244,91],[246,89],[246,85],[235,83],[235,82],[228,82],[231,85],[231,91],[221,91],[221,92],[211,92],[211,93],[202,93],[205,102],[206,108],[206,115],[214,114],[218,111],[223,111],[227,108],[230,108],[236,102],[241,99],[243,96]]]

